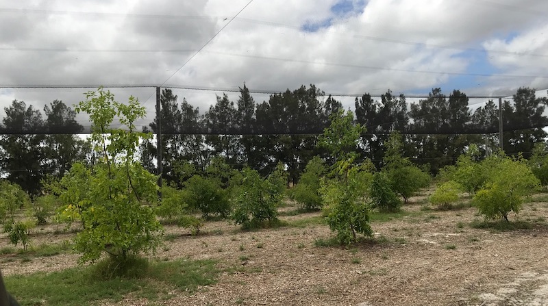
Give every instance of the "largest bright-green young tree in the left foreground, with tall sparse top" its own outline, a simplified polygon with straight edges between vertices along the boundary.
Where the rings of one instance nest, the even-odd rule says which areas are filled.
[[[146,110],[134,97],[119,103],[99,88],[88,92],[76,111],[88,113],[100,158],[90,173],[89,206],[82,212],[85,227],[75,238],[75,250],[79,262],[95,262],[108,253],[117,266],[127,268],[140,252],[160,244],[161,226],[147,205],[157,201],[156,177],[136,162],[139,140],[151,137],[135,127]],[[110,128],[116,117],[125,129]]]

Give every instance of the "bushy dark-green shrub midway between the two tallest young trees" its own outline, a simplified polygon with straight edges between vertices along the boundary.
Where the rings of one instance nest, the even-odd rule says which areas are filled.
[[[244,168],[242,175],[242,185],[234,199],[232,220],[244,229],[260,227],[264,222],[275,222],[287,181],[282,164],[278,164],[266,179],[251,168]]]

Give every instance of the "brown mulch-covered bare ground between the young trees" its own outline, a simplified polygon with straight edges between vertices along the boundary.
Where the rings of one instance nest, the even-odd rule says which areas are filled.
[[[511,216],[530,220],[532,228],[503,232],[471,227],[482,220],[473,207],[424,211],[424,203],[424,196],[415,197],[403,207],[408,216],[372,222],[377,242],[349,248],[314,246],[332,236],[327,225],[307,224],[319,212],[282,217],[290,224],[301,220],[300,227],[250,232],[225,221],[208,222],[198,236],[166,227],[173,241],[158,257],[217,259],[221,268],[237,268],[193,294],[173,292],[155,302],[128,296],[116,305],[548,305],[548,203],[526,203]],[[291,209],[296,207],[284,208]],[[38,229],[34,243],[71,237],[51,231]],[[2,237],[0,243],[8,242]],[[6,275],[76,262],[66,254],[29,262],[7,258],[0,255]]]

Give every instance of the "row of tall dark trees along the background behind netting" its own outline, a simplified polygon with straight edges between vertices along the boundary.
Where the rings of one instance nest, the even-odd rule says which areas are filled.
[[[521,152],[529,157],[534,144],[547,136],[543,130],[548,125],[544,114],[547,99],[536,97],[532,88],[519,88],[512,98],[502,106],[503,148],[510,155]],[[184,181],[180,169],[185,164],[205,172],[218,156],[234,168],[247,165],[262,175],[269,175],[282,162],[292,182],[299,180],[312,157],[335,160],[316,144],[329,127],[329,117],[343,105],[314,85],[271,94],[261,103],[244,85],[237,101],[223,94],[203,114],[170,89],[162,90],[160,99],[162,176],[168,182]],[[454,164],[470,144],[488,153],[498,146],[498,136],[493,134],[499,129],[498,101],[471,107],[464,92],[453,90],[447,97],[440,88],[417,103],[408,103],[403,94],[396,96],[390,90],[380,99],[371,94],[356,97],[354,120],[364,127],[360,156],[369,158],[377,168],[383,166],[386,144],[394,131],[403,135],[403,156],[434,175],[443,166]],[[62,134],[84,129],[62,101],[46,105],[43,114],[17,100],[4,110],[0,172],[30,194],[40,192],[47,175],[62,177],[74,162],[93,164],[89,141]],[[143,131],[157,132],[157,120]],[[142,165],[155,172],[155,142],[145,140],[139,151]]]

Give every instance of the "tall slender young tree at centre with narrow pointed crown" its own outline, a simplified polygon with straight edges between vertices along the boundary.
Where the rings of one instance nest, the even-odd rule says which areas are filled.
[[[371,235],[369,209],[360,203],[362,181],[358,173],[364,169],[356,163],[358,140],[364,128],[354,123],[352,112],[340,110],[332,115],[331,125],[319,138],[319,145],[335,158],[331,179],[323,180],[321,194],[327,222],[340,244],[358,241],[358,233]]]

